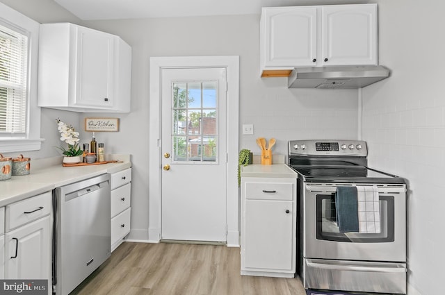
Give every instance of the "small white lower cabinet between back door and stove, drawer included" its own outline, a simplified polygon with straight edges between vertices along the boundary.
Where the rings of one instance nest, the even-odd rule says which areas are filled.
[[[296,272],[296,178],[242,178],[241,274]]]

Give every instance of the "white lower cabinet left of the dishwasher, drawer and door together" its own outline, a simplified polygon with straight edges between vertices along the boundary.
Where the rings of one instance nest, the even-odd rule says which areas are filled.
[[[4,278],[48,280],[48,294],[52,285],[51,197],[47,192],[6,206],[2,255]]]

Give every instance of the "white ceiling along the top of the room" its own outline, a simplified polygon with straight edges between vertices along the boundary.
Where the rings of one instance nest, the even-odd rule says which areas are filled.
[[[54,0],[83,20],[260,14],[266,6],[369,3],[366,0]]]

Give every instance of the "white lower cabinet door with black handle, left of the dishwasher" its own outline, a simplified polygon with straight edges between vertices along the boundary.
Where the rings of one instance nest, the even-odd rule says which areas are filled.
[[[50,217],[6,233],[5,278],[49,279]]]

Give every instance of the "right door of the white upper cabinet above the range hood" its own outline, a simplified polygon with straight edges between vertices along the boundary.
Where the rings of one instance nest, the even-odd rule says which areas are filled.
[[[377,65],[377,4],[322,6],[323,65]]]

